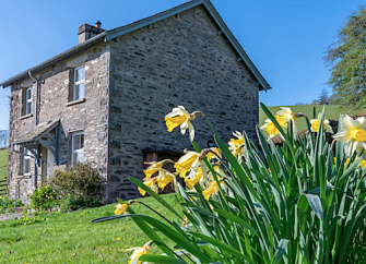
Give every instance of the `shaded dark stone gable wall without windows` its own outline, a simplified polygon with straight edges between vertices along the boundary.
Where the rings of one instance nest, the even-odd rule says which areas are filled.
[[[128,177],[142,178],[143,153],[181,153],[188,135],[166,131],[164,116],[182,105],[203,111],[222,137],[246,130],[255,140],[255,77],[202,7],[110,43],[108,201],[139,195]],[[212,131],[202,117],[196,140],[208,146]]]

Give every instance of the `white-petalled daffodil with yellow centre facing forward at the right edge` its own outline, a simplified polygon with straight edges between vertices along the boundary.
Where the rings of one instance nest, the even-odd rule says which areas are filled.
[[[349,116],[342,118],[342,130],[333,135],[333,139],[344,142],[344,151],[347,156],[361,147],[366,149],[366,119],[364,117],[352,119]]]

